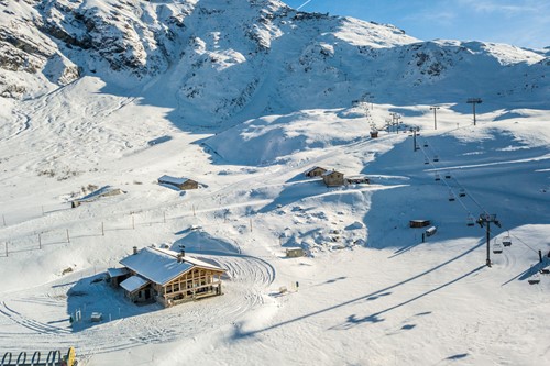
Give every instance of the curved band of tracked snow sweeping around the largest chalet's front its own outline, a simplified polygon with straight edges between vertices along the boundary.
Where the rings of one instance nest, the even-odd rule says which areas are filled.
[[[205,330],[234,323],[244,313],[264,303],[264,296],[275,278],[275,270],[265,260],[245,255],[220,253],[216,256],[216,262],[227,269],[229,278],[223,282],[223,296],[148,314],[103,321],[78,332],[68,325],[61,328],[41,322],[32,313],[18,310],[18,303],[21,302],[43,302],[48,309],[57,309],[58,317],[68,318],[66,298],[50,298],[44,303],[43,299],[25,297],[26,293],[13,293],[11,299],[4,299],[0,304],[0,318],[4,318],[2,323],[12,325],[8,331],[2,328],[0,339],[10,339],[12,352],[48,350],[52,344],[63,350],[78,344],[79,355],[86,358],[143,344],[193,337]],[[108,315],[103,314],[103,319],[106,317]],[[65,323],[68,324],[67,321]]]

